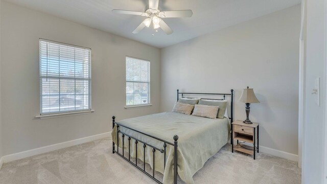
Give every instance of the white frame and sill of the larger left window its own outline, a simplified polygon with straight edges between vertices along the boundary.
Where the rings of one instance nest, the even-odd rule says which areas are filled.
[[[42,78],[44,78],[44,76],[42,76],[42,67],[41,67],[41,52],[40,52],[40,42],[41,41],[45,41],[45,42],[50,42],[50,43],[55,43],[55,44],[60,44],[60,45],[66,45],[68,47],[74,47],[74,48],[79,48],[79,49],[86,49],[89,50],[89,78],[87,79],[89,81],[89,85],[88,85],[88,108],[87,109],[82,109],[82,110],[67,110],[67,111],[56,111],[56,112],[49,112],[49,113],[43,113],[42,112]],[[36,116],[36,118],[56,118],[56,117],[62,117],[62,116],[73,116],[75,114],[85,114],[85,113],[91,113],[94,112],[94,110],[92,110],[92,90],[91,90],[91,84],[92,84],[92,73],[91,73],[91,65],[92,65],[92,50],[91,48],[86,48],[86,47],[82,47],[79,45],[74,45],[74,44],[69,44],[69,43],[63,43],[63,42],[59,42],[59,41],[53,41],[53,40],[49,40],[49,39],[43,39],[43,38],[39,38],[39,87],[40,87],[40,94],[39,94],[39,98],[40,98],[40,116]],[[67,77],[48,77],[48,78],[57,78],[57,79],[67,79]],[[72,79],[72,78],[69,78]],[[78,77],[75,77],[75,80],[78,79]],[[86,80],[86,79],[85,79]],[[60,98],[60,95],[59,95]],[[75,99],[76,100],[76,99]]]

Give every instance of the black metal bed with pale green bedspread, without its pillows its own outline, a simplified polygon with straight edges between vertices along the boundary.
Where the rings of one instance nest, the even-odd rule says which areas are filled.
[[[177,112],[150,114],[120,122],[115,122],[112,117],[112,153],[119,154],[158,183],[177,184],[179,175],[184,182],[193,184],[193,175],[230,139],[232,89],[230,94],[180,93],[177,90],[177,100],[180,95],[223,96],[219,100],[225,100],[229,95],[231,117],[209,119]],[[131,158],[138,158],[142,163]],[[146,163],[151,166],[152,173],[146,171]],[[162,181],[155,178],[154,171],[164,175]]]

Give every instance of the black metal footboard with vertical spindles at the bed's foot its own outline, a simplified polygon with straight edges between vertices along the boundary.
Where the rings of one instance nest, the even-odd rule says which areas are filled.
[[[114,125],[116,124],[116,133],[117,133],[117,149],[115,150],[115,144],[114,142],[112,141],[112,153],[117,153],[118,155],[120,155],[121,157],[123,157],[125,160],[127,160],[127,162],[129,162],[130,164],[132,164],[134,167],[136,167],[138,170],[142,171],[143,173],[145,173],[146,175],[148,175],[149,177],[151,177],[153,180],[155,180],[157,183],[161,183],[161,181],[159,181],[158,179],[155,178],[154,176],[154,171],[155,171],[155,153],[156,151],[159,151],[161,154],[164,154],[164,170],[166,168],[166,147],[167,147],[167,144],[169,145],[172,145],[174,146],[174,184],[177,184],[177,140],[178,140],[178,136],[177,135],[174,135],[173,139],[174,139],[174,143],[170,143],[169,141],[165,141],[165,140],[162,140],[158,137],[155,137],[155,136],[152,136],[152,135],[149,135],[147,133],[144,133],[144,132],[141,132],[141,131],[138,131],[138,130],[135,130],[135,129],[132,129],[132,128],[129,128],[125,125],[122,125],[120,123],[117,123],[115,122],[115,117],[113,116],[112,117],[112,129],[114,128]],[[153,139],[156,139],[158,141],[161,141],[163,143],[163,146],[162,146],[162,149],[161,148],[157,148],[155,146],[152,146],[146,142],[143,142],[141,140],[138,140],[136,139],[135,137],[131,136],[131,135],[128,135],[124,132],[122,132],[119,127],[122,126],[122,127],[125,127],[125,128],[128,128],[130,130],[133,130],[133,131],[136,131],[138,133],[142,133],[144,135],[147,135]],[[122,135],[122,153],[119,152],[119,134]],[[128,139],[128,158],[124,155],[124,139],[125,139],[125,136],[127,137]],[[131,139],[135,140],[135,148],[136,148],[136,156],[135,156],[135,163],[133,163],[130,159],[130,144],[131,144]],[[141,143],[142,144],[142,147],[143,147],[143,151],[144,151],[144,154],[143,154],[143,168],[142,166],[138,166],[137,165],[137,144],[138,143]],[[152,173],[148,173],[145,169],[145,165],[146,165],[146,162],[145,162],[145,155],[146,155],[146,147],[151,147],[152,148],[152,156],[153,156],[153,163],[152,163]]]

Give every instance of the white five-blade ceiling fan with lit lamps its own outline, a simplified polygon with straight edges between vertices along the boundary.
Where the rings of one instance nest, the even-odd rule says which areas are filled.
[[[129,11],[129,10],[112,10],[114,13],[141,15],[146,16],[145,20],[133,31],[134,34],[139,33],[143,28],[150,27],[153,23],[153,28],[161,28],[166,34],[172,34],[173,30],[166,24],[162,18],[171,17],[191,17],[192,10],[174,10],[174,11],[160,11],[158,10],[159,0],[149,0],[149,9],[145,12]]]

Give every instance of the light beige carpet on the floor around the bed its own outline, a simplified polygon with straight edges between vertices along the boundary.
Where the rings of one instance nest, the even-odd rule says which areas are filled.
[[[259,153],[231,153],[224,146],[195,175],[196,183],[301,183],[295,162]],[[148,167],[149,169],[149,167]],[[162,178],[156,173],[157,178]],[[6,163],[0,170],[1,184],[43,183],[156,183],[111,153],[111,139],[101,139]],[[183,183],[179,180],[179,183]]]

